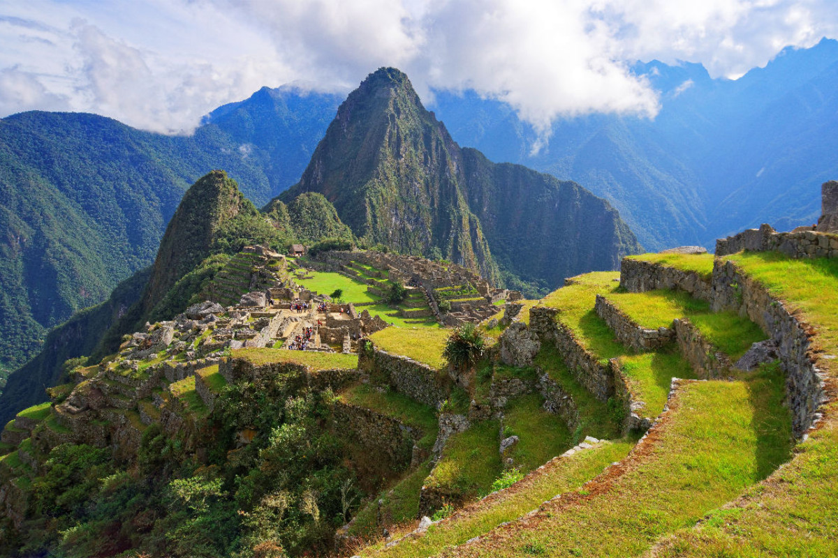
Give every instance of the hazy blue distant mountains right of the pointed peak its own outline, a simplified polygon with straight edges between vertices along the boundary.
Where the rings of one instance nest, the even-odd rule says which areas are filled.
[[[579,182],[617,207],[646,248],[712,248],[742,228],[814,223],[814,186],[838,176],[838,41],[784,49],[740,79],[701,64],[634,65],[660,91],[654,120],[557,120],[549,144],[508,105],[437,92],[433,109],[463,146]]]

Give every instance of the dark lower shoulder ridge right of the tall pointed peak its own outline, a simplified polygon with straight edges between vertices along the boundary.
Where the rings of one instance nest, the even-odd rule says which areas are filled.
[[[501,269],[557,286],[582,271],[617,269],[623,256],[640,252],[617,210],[576,182],[496,165],[474,149],[462,154],[469,207]]]

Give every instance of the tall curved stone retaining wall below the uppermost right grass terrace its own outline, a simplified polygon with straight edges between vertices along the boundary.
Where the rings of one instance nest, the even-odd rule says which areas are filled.
[[[716,260],[712,308],[747,315],[776,342],[786,372],[794,436],[801,437],[814,421],[820,403],[825,401],[824,376],[810,342],[815,331],[730,261]]]

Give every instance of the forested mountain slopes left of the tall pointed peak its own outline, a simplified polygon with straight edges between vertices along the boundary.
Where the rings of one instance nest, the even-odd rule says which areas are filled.
[[[49,328],[151,264],[190,184],[224,168],[257,204],[293,182],[341,98],[260,90],[162,136],[98,115],[0,120],[0,376]]]

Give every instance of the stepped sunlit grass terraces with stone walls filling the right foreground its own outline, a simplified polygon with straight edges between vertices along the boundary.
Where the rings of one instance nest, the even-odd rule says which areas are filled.
[[[628,456],[587,475],[569,467],[603,448],[628,451],[631,438],[612,430],[615,442],[592,440],[587,453],[358,555],[835,555],[835,404],[807,402],[834,393],[838,265],[770,252],[633,260],[624,286],[608,274],[569,279],[526,316],[540,334],[540,371],[581,403],[567,414],[598,404],[588,412],[602,417],[622,396],[634,414],[623,427],[654,420]],[[783,309],[774,311],[811,342],[790,343],[792,326],[768,309]],[[733,366],[766,339],[778,347],[764,364]],[[814,380],[791,346],[815,362]]]

